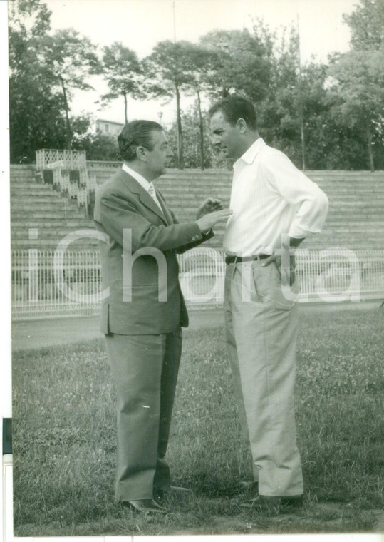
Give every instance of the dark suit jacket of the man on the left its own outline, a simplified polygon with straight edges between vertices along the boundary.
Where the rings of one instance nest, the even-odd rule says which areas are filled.
[[[162,210],[124,170],[115,173],[96,192],[95,227],[107,233],[110,239],[109,245],[100,242],[102,287],[103,290],[110,288],[109,297],[103,300],[101,307],[104,334],[162,334],[188,325],[176,252],[197,246],[213,234],[202,235],[195,222],[177,223],[158,190],[157,196]],[[124,228],[132,232],[133,257],[143,247],[154,247],[162,252],[167,263],[166,280],[164,282],[162,277],[159,282],[155,257],[142,255],[135,259],[131,301],[123,300]],[[159,301],[159,283],[166,285],[166,301]]]

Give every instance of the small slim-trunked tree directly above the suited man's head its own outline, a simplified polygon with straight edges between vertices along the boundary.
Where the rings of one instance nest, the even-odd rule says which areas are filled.
[[[128,123],[128,96],[144,98],[142,92],[142,67],[135,51],[115,41],[110,47],[103,49],[102,73],[108,83],[110,92],[101,97],[108,103],[119,96],[124,98],[124,118]]]

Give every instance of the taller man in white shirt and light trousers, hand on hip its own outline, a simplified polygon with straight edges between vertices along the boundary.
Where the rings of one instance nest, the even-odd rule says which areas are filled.
[[[234,163],[227,253],[225,322],[242,433],[251,448],[259,496],[249,506],[299,506],[294,380],[297,335],[294,248],[320,232],[328,198],[256,129],[242,96],[209,110],[212,143]],[[288,252],[289,251],[289,252]],[[281,257],[288,265],[281,266]],[[251,484],[249,484],[251,485]]]

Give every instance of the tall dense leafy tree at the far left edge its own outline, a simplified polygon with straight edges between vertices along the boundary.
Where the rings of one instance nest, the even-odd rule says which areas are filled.
[[[11,162],[31,163],[38,148],[62,148],[63,102],[41,64],[41,36],[51,12],[40,0],[9,3],[9,123]]]

